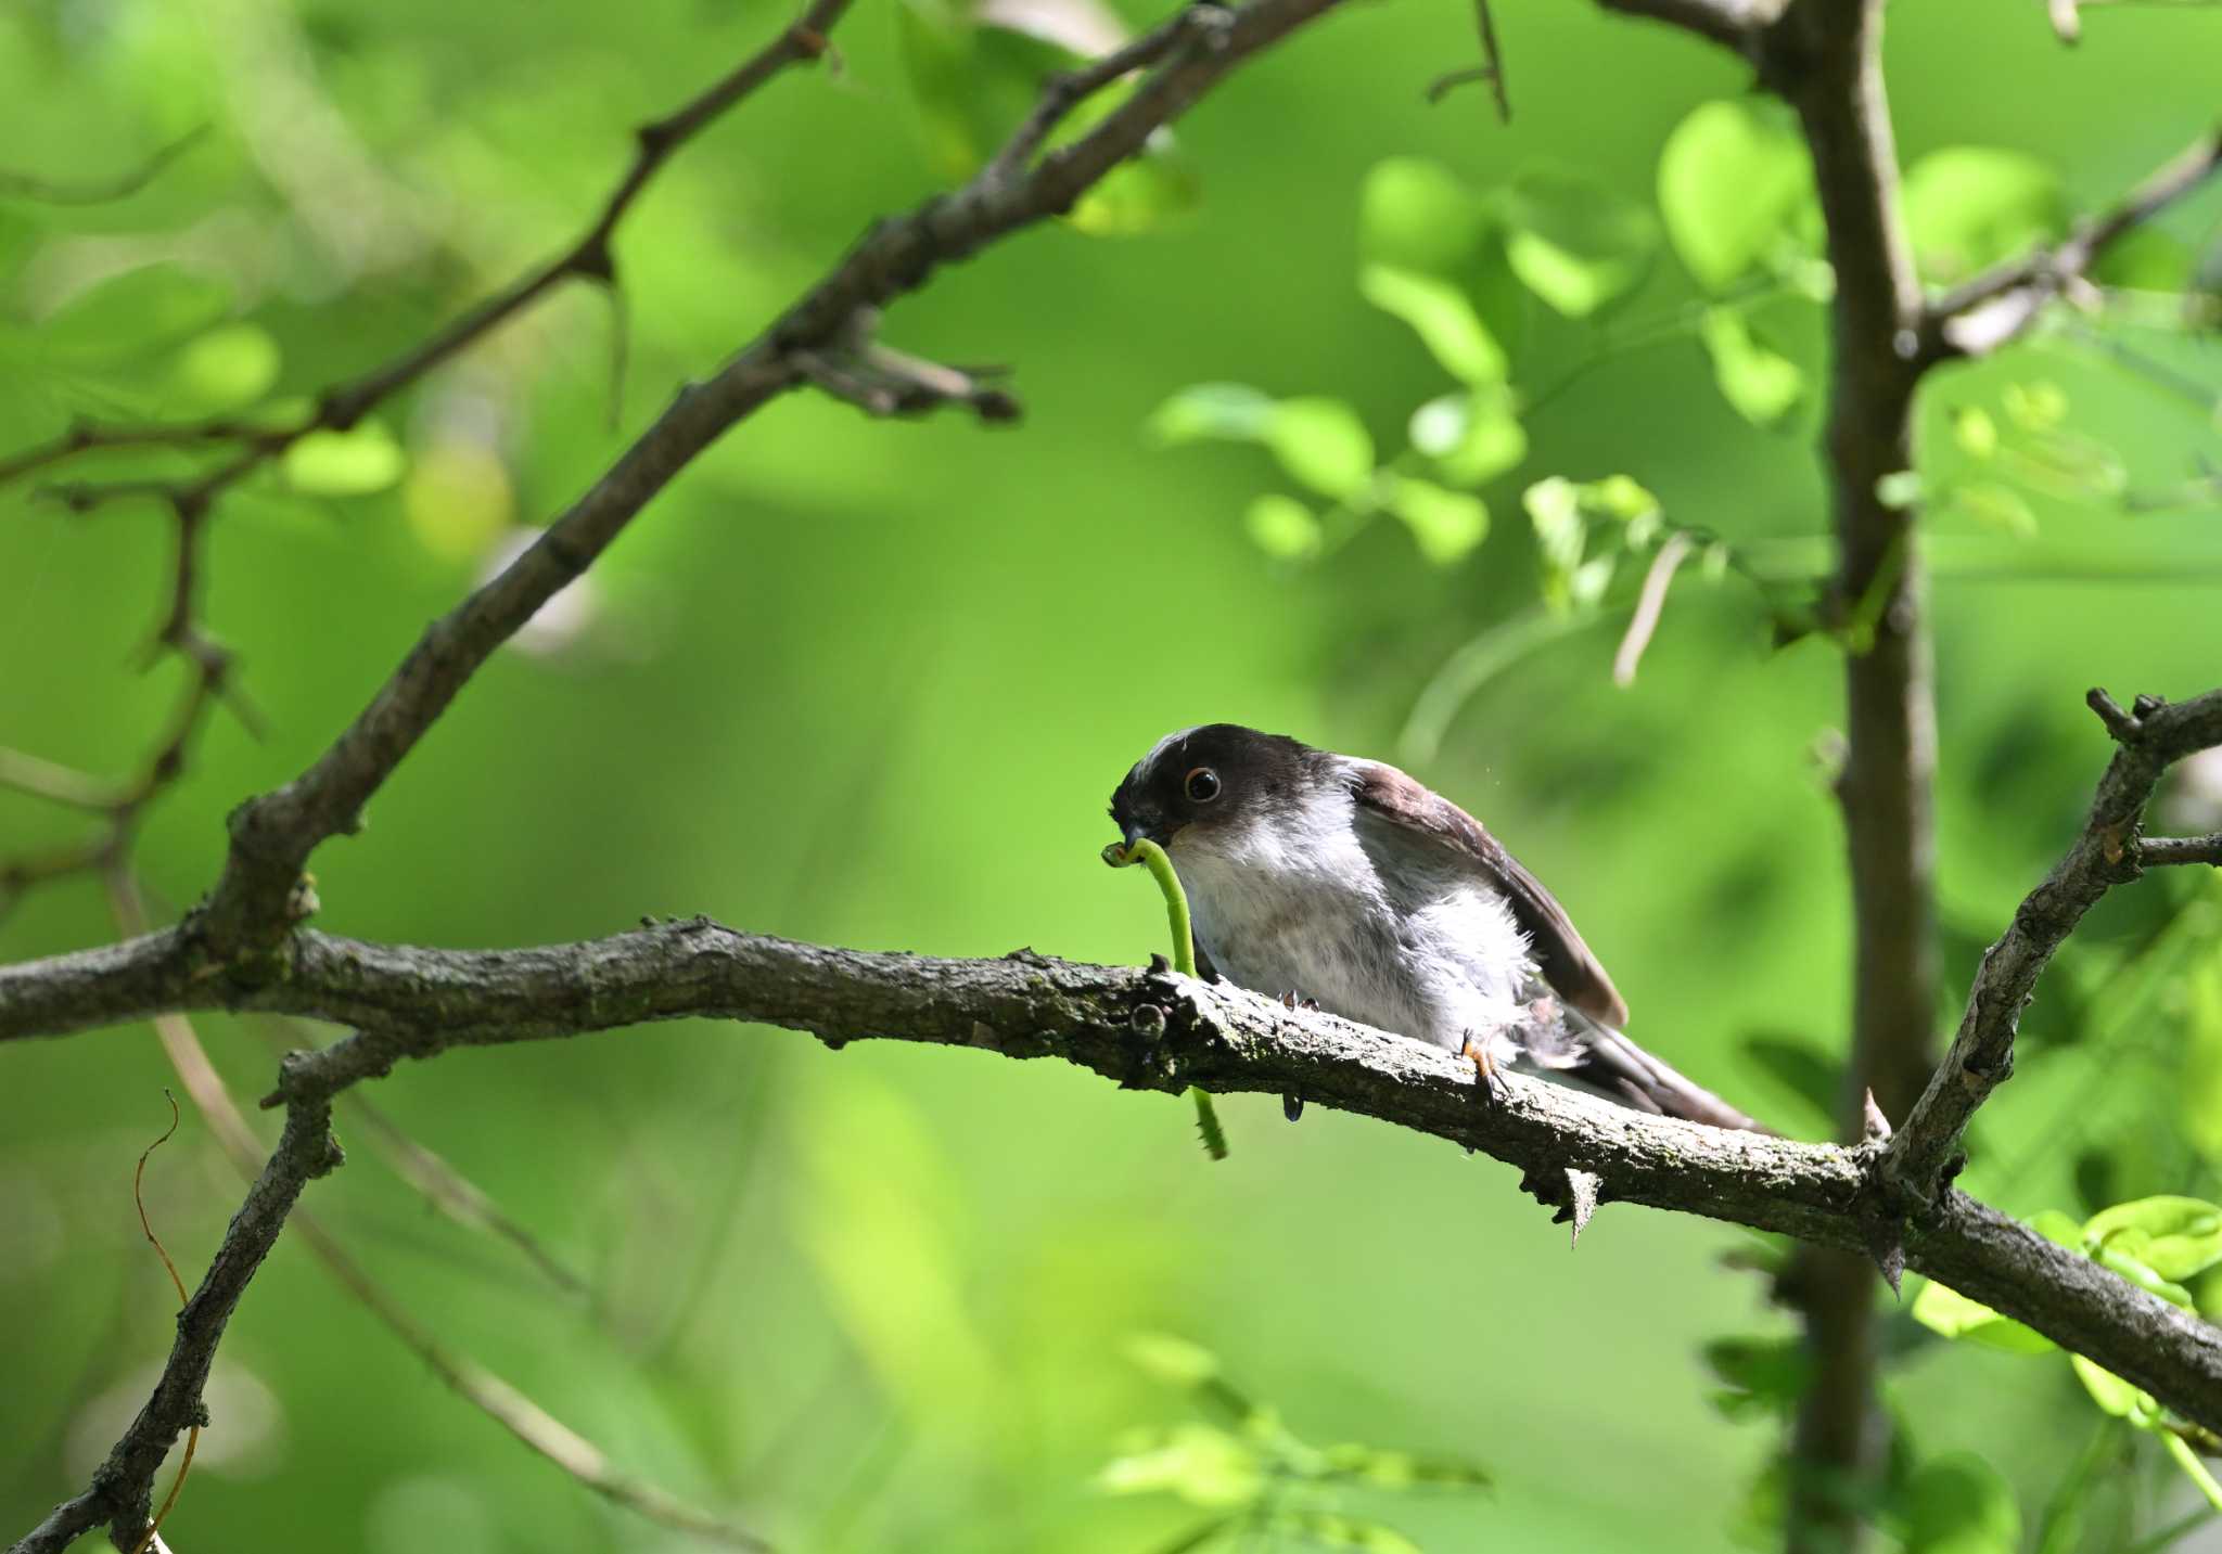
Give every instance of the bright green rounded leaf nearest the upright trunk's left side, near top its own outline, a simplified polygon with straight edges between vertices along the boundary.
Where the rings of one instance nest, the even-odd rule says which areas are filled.
[[[1773,102],[1700,102],[1660,149],[1666,242],[1706,291],[1793,249],[1793,215],[1811,198],[1804,142]]]

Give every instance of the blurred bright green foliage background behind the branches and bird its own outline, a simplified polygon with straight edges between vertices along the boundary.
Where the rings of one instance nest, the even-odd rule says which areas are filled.
[[[700,0],[9,9],[18,171],[102,180],[209,133],[127,200],[0,198],[0,446],[73,415],[282,424],[571,238],[629,129],[782,20]],[[2215,11],[2093,9],[2075,51],[2013,0],[1891,20],[1931,282],[2062,231],[2213,120]],[[218,715],[198,741],[138,839],[153,897],[187,906],[224,810],[313,759],[675,382],[873,215],[975,167],[1038,73],[1115,24],[867,0],[840,71],[767,89],[638,206],[622,306],[553,297],[229,495],[204,615],[267,735]],[[889,313],[904,349],[1013,364],[1022,431],[798,395],[727,437],[318,857],[324,921],[529,944],[707,910],[1138,961],[1162,921],[1095,864],[1102,797],[1167,728],[1231,717],[1402,753],[1553,884],[1647,1046],[1820,1132],[1846,1006],[1826,795],[1844,630],[1811,610],[1829,275],[1804,162],[1726,56],[1587,4],[1500,0],[1509,127],[1487,93],[1427,107],[1469,29],[1455,4],[1342,13],[1073,222]],[[2184,695],[2222,664],[2222,371],[2211,315],[2178,302],[2213,273],[2213,220],[2209,195],[2126,244],[2102,315],[1938,377],[1893,486],[1924,500],[1935,575],[1955,988],[2106,757],[2080,690]],[[1673,535],[1693,559],[1615,688]],[[140,668],[167,566],[153,506],[0,495],[0,741],[96,773],[144,759],[178,688],[173,664]],[[2222,779],[2204,793],[2180,788],[2171,824],[2218,824]],[[0,793],[9,855],[80,826]],[[2113,1205],[2222,1199],[2218,921],[2211,888],[2169,877],[2091,915],[1964,1185],[2022,1214],[2075,1203],[2080,1237]],[[0,957],[111,935],[78,879],[0,924]],[[242,1097],[296,1039],[202,1035]],[[13,1536],[84,1481],[167,1350],[129,1172],[169,1074],[147,1030],[18,1043],[0,1072]],[[591,1296],[436,1217],[362,1121],[313,1210],[453,1345],[782,1547],[1178,1547],[1209,1525],[1180,1494],[1195,1479],[1138,1467],[1175,1447],[1240,1485],[1298,1465],[1298,1499],[1218,1512],[1255,1514],[1264,1547],[1398,1547],[1369,1527],[1427,1550],[1769,1541],[1798,1368],[1753,1272],[1773,1250],[1738,1232],[1611,1210],[1569,1257],[1509,1172],[1335,1114],[1289,1128],[1231,1099],[1240,1148],[1213,1166],[1175,1106],[1055,1063],[715,1026],[458,1052],[376,1101]],[[238,1199],[196,1119],[147,1199],[191,1279]],[[2215,1310],[2211,1272],[2155,1276]],[[1271,1427],[1153,1423],[1162,1388],[1120,1359],[1144,1332],[1227,1356]],[[2093,1439],[2066,1370],[1938,1343],[1913,1314],[1886,1334],[1902,1439],[1873,1512],[1906,1547],[2160,1547],[2200,1510],[2166,1459],[2182,1436],[2109,1419]],[[520,1452],[293,1241],[213,1388],[171,1523],[187,1550],[302,1527],[367,1554],[687,1543]],[[1307,1472],[1338,1461],[1315,1439],[1480,1459],[1498,1487],[1311,1499]],[[1109,1492],[1144,1485],[1171,1492]]]

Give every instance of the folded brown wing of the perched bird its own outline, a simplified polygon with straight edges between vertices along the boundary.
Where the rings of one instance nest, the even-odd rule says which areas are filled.
[[[1602,1026],[1627,1030],[1629,1006],[1604,975],[1604,966],[1582,944],[1567,908],[1535,875],[1520,868],[1520,859],[1507,852],[1482,821],[1395,766],[1378,761],[1353,766],[1351,795],[1358,799],[1362,839],[1371,833],[1373,841],[1427,866],[1480,875],[1513,908],[1513,921],[1529,937],[1535,963],[1558,997]]]

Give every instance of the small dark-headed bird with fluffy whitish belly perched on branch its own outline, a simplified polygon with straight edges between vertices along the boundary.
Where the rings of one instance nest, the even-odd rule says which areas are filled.
[[[1204,724],[1135,761],[1111,819],[1173,859],[1204,977],[1458,1052],[1484,1092],[1520,1066],[1758,1130],[1620,1035],[1629,1006],[1567,910],[1478,819],[1393,766]]]

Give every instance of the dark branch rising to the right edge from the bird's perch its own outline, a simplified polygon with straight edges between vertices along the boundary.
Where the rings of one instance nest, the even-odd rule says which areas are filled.
[[[1884,1154],[1884,1179],[1913,1203],[1926,1203],[1938,1183],[1946,1181],[1975,1108],[2013,1074],[2013,1035],[2022,1023],[2022,1006],[2053,950],[2109,888],[2138,877],[2138,826],[2160,775],[2193,750],[2222,744],[2222,690],[2173,706],[2138,697],[2133,713],[2115,706],[2104,690],[2093,690],[2091,708],[2115,737],[2113,761],[2098,784],[2091,817],[2066,857],[2013,912],[2006,932],[1984,950],[1951,1052]],[[2178,861],[2169,857],[2166,844],[2155,848],[2158,861]]]

